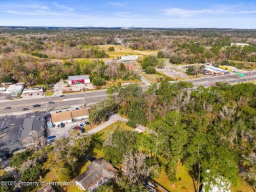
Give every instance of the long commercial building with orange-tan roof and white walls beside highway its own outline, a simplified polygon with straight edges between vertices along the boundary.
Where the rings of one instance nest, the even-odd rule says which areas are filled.
[[[87,108],[76,109],[73,111],[64,111],[51,114],[51,122],[55,125],[60,125],[60,123],[72,123],[72,121],[86,119],[88,117],[89,111]]]

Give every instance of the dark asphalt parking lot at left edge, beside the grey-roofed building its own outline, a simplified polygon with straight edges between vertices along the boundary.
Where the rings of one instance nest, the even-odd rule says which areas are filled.
[[[33,115],[37,116],[42,114],[43,112],[0,117],[0,126],[8,127],[5,130],[0,131],[0,146],[18,142],[20,134],[22,132],[22,125],[24,123],[24,119],[32,117]]]

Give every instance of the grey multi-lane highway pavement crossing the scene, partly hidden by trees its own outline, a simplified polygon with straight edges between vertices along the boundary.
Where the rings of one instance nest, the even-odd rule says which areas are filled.
[[[200,79],[190,79],[186,80],[187,82],[191,82],[194,84],[194,87],[197,86],[211,86],[216,82],[226,82],[230,84],[234,83],[242,83],[246,81],[256,81],[256,71],[248,71],[245,72],[245,77],[240,77],[236,74],[231,75],[221,75],[221,76],[213,76],[213,77],[203,77]],[[171,83],[175,83],[177,81],[171,81]],[[142,85],[142,89],[145,90],[149,85]],[[47,109],[58,109],[61,107],[72,107],[83,104],[91,104],[94,102],[98,102],[99,100],[104,100],[107,98],[106,90],[95,90],[88,92],[81,92],[76,94],[65,94],[64,97],[60,96],[47,96],[45,98],[38,99],[18,99],[18,100],[0,100],[0,115],[9,115],[14,113],[19,113],[22,111],[22,108],[28,107],[28,112],[35,111],[43,111]],[[48,102],[54,102],[54,104],[48,104]],[[41,107],[33,107],[34,104],[39,104]],[[5,107],[11,107],[11,109],[5,109]],[[24,111],[26,112],[26,111]]]

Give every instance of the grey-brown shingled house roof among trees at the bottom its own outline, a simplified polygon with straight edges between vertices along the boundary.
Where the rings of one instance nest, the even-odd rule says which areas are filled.
[[[115,172],[117,170],[112,164],[100,158],[89,164],[87,170],[76,177],[75,180],[81,182],[84,189],[89,189],[103,178],[111,178]]]

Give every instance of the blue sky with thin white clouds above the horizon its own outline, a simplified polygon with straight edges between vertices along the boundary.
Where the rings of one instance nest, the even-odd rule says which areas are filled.
[[[256,0],[0,0],[0,26],[256,29]]]

